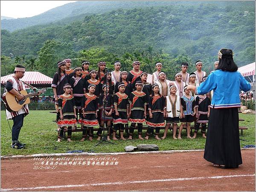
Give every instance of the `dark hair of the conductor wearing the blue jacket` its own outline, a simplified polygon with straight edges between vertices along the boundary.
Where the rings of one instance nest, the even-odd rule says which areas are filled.
[[[236,72],[238,67],[233,60],[233,51],[231,49],[221,49],[220,52],[222,55],[217,69],[227,72]]]

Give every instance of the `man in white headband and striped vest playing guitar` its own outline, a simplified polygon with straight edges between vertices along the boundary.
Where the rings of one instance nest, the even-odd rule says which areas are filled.
[[[21,90],[25,90],[25,85],[21,82],[21,78],[25,74],[25,67],[22,65],[17,65],[14,70],[14,76],[10,77],[6,82],[6,90],[7,92],[11,93],[12,95],[15,95],[17,97],[17,100],[24,100],[24,95],[21,95],[19,92]],[[40,95],[41,92],[38,92],[38,95]],[[18,140],[20,129],[23,126],[23,119],[26,115],[29,114],[29,108],[28,105],[22,106],[22,108],[18,111],[9,112],[6,110],[6,116],[7,119],[13,120],[13,126],[12,126],[12,148],[13,149],[23,149],[25,147],[25,143],[20,143]]]

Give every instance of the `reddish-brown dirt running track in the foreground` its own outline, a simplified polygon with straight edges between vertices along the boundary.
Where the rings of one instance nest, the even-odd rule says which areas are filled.
[[[203,151],[48,157],[48,163],[85,161],[55,169],[35,165],[46,162],[45,157],[2,159],[1,191],[255,191],[255,149],[241,153],[243,164],[237,169],[213,167]],[[102,165],[88,166],[87,161],[97,162],[94,158],[110,160],[98,159]]]

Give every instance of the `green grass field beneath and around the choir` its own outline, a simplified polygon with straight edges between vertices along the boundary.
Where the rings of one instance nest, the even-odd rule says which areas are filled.
[[[243,136],[240,136],[241,147],[245,145],[255,145],[255,115],[253,114],[241,114],[239,117],[245,121],[240,121],[240,126],[246,126],[248,130],[244,130]],[[137,144],[157,144],[159,150],[182,150],[182,149],[204,149],[205,139],[202,138],[202,134],[199,131],[197,138],[194,140],[186,138],[186,131],[183,129],[182,140],[173,140],[172,132],[168,132],[167,138],[164,140],[156,140],[154,137],[149,140],[137,139],[137,131],[134,131],[133,140],[118,140],[113,141],[113,144],[99,144],[94,136],[93,141],[81,139],[81,132],[72,133],[73,142],[67,142],[63,140],[61,143],[55,142],[57,140],[57,126],[52,120],[55,120],[55,114],[49,113],[49,111],[30,111],[29,115],[25,117],[23,128],[20,131],[19,140],[26,143],[26,149],[11,149],[10,144],[12,140],[12,128],[13,121],[6,120],[5,111],[1,111],[1,156],[3,155],[30,155],[38,153],[66,153],[70,150],[84,150],[84,152],[124,152],[125,146]],[[143,130],[143,137],[145,137],[145,131]],[[160,137],[162,137],[164,130],[160,130]],[[96,132],[94,132],[96,135]]]

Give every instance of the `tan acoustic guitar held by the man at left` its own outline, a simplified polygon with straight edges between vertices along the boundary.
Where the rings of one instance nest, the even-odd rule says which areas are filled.
[[[46,89],[44,88],[44,89],[41,89],[40,91],[42,93],[44,93],[46,91]],[[21,95],[24,95],[24,97],[25,97],[24,100],[18,100],[17,97],[10,92],[6,92],[3,94],[2,101],[5,104],[7,111],[17,112],[18,110],[20,110],[23,107],[23,105],[30,103],[29,97],[39,95],[39,92],[28,94],[26,92],[26,90],[21,90],[19,93]]]

